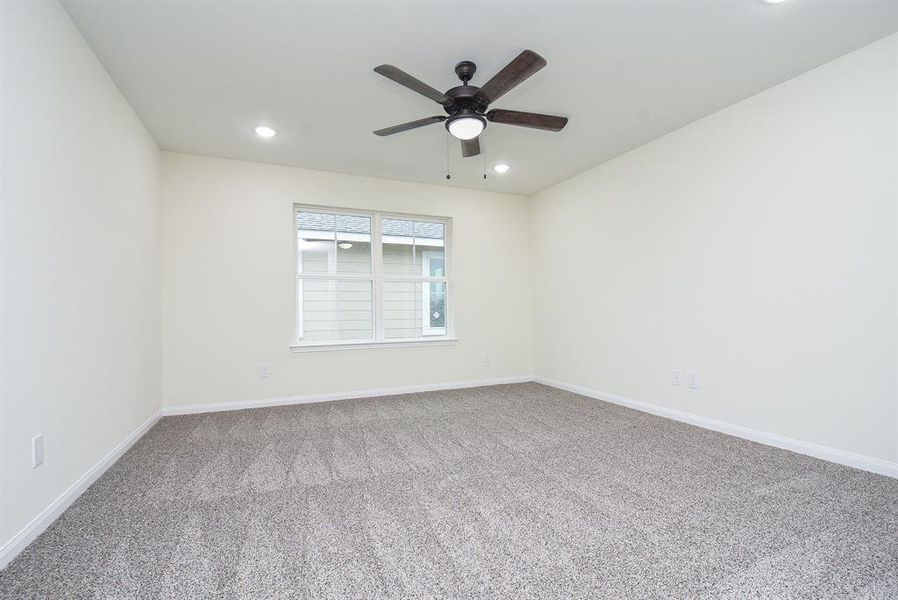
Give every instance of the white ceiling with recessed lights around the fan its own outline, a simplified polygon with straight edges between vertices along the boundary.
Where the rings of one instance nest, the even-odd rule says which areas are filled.
[[[159,145],[222,156],[530,194],[898,30],[898,2],[273,2],[68,0]],[[494,106],[570,117],[561,133],[493,124],[483,161],[442,114],[375,74],[392,63],[445,90],[531,48],[548,67]],[[280,135],[263,141],[251,127]]]

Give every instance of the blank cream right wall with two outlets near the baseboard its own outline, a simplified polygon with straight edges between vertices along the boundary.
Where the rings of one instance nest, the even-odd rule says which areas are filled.
[[[898,459],[896,42],[538,194],[536,374]]]

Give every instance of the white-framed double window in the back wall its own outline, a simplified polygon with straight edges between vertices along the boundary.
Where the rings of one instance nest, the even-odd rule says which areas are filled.
[[[295,207],[296,350],[450,342],[449,220]]]

